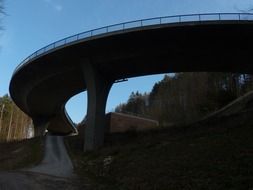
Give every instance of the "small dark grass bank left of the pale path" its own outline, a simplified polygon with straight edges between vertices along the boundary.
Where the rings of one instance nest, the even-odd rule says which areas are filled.
[[[43,138],[0,143],[0,170],[16,170],[38,164],[43,156]]]

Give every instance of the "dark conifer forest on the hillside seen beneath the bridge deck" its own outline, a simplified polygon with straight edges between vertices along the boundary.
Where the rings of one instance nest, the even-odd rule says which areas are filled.
[[[252,81],[252,75],[234,73],[165,75],[151,92],[132,92],[115,111],[152,118],[162,126],[193,122],[252,90]]]

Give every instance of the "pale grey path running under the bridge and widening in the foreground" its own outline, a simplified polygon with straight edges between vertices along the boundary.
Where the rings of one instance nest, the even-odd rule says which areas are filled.
[[[42,162],[21,171],[0,172],[0,190],[87,189],[73,173],[63,137],[46,137]]]

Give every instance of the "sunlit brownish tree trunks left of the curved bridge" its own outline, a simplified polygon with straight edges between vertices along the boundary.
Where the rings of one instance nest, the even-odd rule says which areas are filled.
[[[33,135],[32,120],[8,95],[0,97],[0,141],[13,141]]]

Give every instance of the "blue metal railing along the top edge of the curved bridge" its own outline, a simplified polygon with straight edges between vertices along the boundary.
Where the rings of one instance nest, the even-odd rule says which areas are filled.
[[[109,25],[94,30],[89,30],[82,32],[73,36],[69,36],[62,40],[51,43],[23,60],[15,69],[14,73],[19,70],[21,66],[29,63],[31,60],[48,53],[56,48],[64,47],[70,43],[77,42],[84,39],[89,39],[94,36],[101,34],[107,34],[110,32],[124,31],[133,28],[152,26],[152,25],[162,25],[162,24],[172,24],[172,23],[183,23],[183,22],[202,22],[202,21],[253,21],[253,14],[250,13],[207,13],[207,14],[188,14],[188,15],[174,15],[174,16],[164,16],[155,17],[149,19],[141,19],[130,22],[124,22],[114,25]]]

